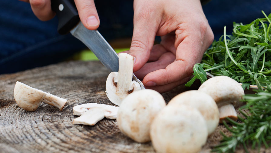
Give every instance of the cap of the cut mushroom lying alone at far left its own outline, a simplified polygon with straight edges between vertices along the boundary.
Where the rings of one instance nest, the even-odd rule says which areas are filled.
[[[37,110],[45,95],[44,91],[32,88],[19,81],[16,82],[14,87],[14,99],[18,106],[26,111]]]

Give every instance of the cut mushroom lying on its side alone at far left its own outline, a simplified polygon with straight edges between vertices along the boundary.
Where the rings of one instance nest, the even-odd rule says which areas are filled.
[[[19,81],[14,87],[14,98],[19,107],[26,111],[35,111],[41,102],[57,107],[62,111],[67,99],[63,99],[50,93],[32,88]]]

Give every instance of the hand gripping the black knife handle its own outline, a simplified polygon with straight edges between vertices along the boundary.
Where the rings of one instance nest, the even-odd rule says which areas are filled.
[[[55,16],[51,10],[51,0],[20,0],[29,2],[33,13],[41,21],[48,21]],[[94,0],[74,0],[78,14],[83,25],[89,30],[96,30],[100,25],[100,19],[94,4]]]

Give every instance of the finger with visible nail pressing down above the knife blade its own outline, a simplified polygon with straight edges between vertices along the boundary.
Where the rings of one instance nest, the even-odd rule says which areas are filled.
[[[100,19],[94,0],[74,0],[74,2],[83,25],[89,30],[96,30],[100,25]]]

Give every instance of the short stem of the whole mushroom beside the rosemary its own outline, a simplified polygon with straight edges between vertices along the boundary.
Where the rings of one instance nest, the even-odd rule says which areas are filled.
[[[225,118],[227,117],[234,121],[237,120],[237,114],[232,104],[223,105],[219,107],[218,109],[219,109],[219,123],[223,123],[223,120],[225,120]]]

